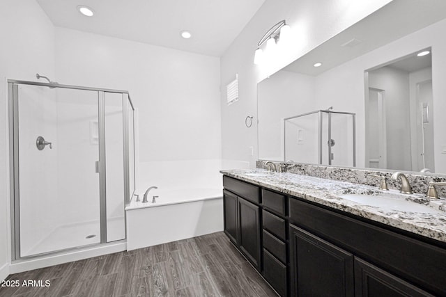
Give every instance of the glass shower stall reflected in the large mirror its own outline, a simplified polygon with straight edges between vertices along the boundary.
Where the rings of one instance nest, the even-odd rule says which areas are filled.
[[[355,113],[326,110],[284,118],[285,161],[356,166]]]

